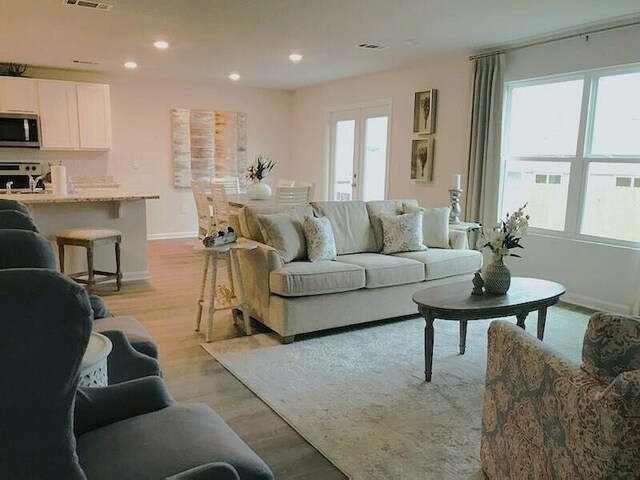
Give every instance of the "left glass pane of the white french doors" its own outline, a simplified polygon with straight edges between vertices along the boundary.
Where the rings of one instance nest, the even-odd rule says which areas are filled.
[[[334,122],[333,197],[331,200],[353,200],[353,172],[356,145],[356,120]]]

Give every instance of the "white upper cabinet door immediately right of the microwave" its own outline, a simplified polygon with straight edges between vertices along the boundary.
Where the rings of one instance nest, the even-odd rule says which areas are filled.
[[[77,150],[79,144],[76,84],[38,80],[43,150]]]

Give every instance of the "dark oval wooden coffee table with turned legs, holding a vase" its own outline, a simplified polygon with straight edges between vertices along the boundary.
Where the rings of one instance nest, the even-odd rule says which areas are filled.
[[[470,281],[440,285],[420,290],[413,295],[418,311],[425,319],[424,374],[431,381],[433,364],[433,321],[457,320],[460,322],[460,355],[464,354],[467,341],[467,321],[515,315],[517,325],[525,328],[529,312],[538,311],[538,338],[544,337],[547,308],[555,304],[566,288],[559,283],[538,278],[511,279],[506,295],[471,295]]]

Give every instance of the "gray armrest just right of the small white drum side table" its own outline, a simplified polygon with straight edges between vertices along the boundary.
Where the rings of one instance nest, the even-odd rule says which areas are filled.
[[[112,344],[111,353],[107,357],[109,385],[136,378],[162,376],[158,360],[134,349],[123,332],[108,330],[101,333]]]

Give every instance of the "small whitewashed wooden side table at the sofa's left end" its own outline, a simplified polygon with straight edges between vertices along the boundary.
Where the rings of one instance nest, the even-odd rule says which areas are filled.
[[[202,321],[202,310],[206,307],[207,330],[205,332],[205,340],[207,342],[213,339],[213,316],[215,312],[221,310],[231,310],[233,312],[233,321],[240,327],[245,335],[251,335],[251,319],[249,317],[249,304],[245,295],[244,283],[242,280],[242,272],[240,270],[240,262],[238,260],[239,250],[255,250],[255,243],[243,241],[242,239],[234,243],[222,245],[220,247],[201,247],[200,251],[204,253],[204,271],[202,273],[202,285],[200,287],[200,297],[198,298],[198,318],[196,319],[196,332],[200,331],[200,323]],[[227,276],[229,278],[228,301],[222,295],[218,295],[218,261],[224,261],[227,268]],[[211,277],[211,278],[209,278]],[[207,282],[208,281],[208,282]],[[208,299],[205,298],[207,291],[207,283],[209,283]],[[224,287],[223,287],[224,288]],[[216,298],[221,297],[221,298]],[[242,312],[243,322],[239,322],[236,310]]]

